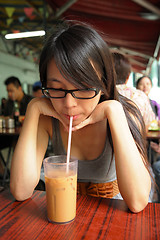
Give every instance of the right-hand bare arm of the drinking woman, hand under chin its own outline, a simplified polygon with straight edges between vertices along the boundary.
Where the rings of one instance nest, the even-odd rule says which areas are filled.
[[[148,203],[151,178],[137,149],[121,103],[115,100],[102,102],[89,118],[73,130],[106,118],[111,129],[119,190],[130,210],[139,212]]]

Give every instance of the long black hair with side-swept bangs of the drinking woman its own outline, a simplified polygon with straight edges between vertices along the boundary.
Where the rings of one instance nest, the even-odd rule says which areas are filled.
[[[39,71],[42,86],[47,85],[47,66],[51,59],[54,59],[63,77],[74,86],[92,86],[101,90],[100,102],[113,99],[121,102],[133,138],[146,161],[145,127],[141,113],[134,103],[118,94],[112,55],[100,34],[91,26],[79,22],[65,22],[58,27],[41,53]],[[109,126],[108,135],[113,148]]]

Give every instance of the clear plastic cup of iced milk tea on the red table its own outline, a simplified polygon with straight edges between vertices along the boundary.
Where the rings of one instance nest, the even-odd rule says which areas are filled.
[[[70,159],[67,164],[66,159],[66,155],[57,155],[43,161],[48,220],[59,224],[76,216],[78,161]]]

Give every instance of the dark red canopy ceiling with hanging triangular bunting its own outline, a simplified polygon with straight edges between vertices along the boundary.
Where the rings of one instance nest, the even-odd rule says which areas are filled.
[[[160,57],[160,0],[0,0],[0,34],[49,31],[62,18],[89,22],[102,31],[111,49],[126,54],[135,72],[149,73]],[[23,47],[39,56],[45,37],[13,42],[13,54]],[[16,51],[17,44],[21,50]],[[37,59],[35,58],[35,61]]]

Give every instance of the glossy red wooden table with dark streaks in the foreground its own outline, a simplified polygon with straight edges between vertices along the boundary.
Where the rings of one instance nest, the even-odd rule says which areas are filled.
[[[0,239],[159,240],[160,204],[149,203],[133,214],[122,200],[78,196],[75,220],[57,225],[47,220],[45,192],[17,202],[5,190],[0,193]]]

